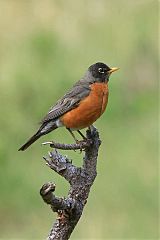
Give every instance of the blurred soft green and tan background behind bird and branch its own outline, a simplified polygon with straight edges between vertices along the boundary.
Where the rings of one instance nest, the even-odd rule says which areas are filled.
[[[45,166],[45,140],[17,149],[86,69],[111,76],[107,111],[95,126],[98,176],[71,239],[158,239],[158,1],[0,0],[0,238],[44,239],[56,217],[39,189],[68,184]],[[84,132],[84,131],[83,131]],[[64,152],[82,164],[82,154]]]

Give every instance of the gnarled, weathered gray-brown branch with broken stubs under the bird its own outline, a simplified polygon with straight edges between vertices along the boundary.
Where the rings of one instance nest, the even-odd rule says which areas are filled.
[[[82,142],[84,143],[84,141]],[[90,188],[97,175],[96,165],[101,141],[96,128],[87,130],[87,144],[84,144],[83,148],[82,142],[69,145],[57,145],[49,142],[52,147],[54,145],[54,147],[62,147],[61,149],[84,149],[85,156],[82,167],[74,166],[66,156],[61,155],[57,150],[50,152],[48,157],[44,157],[46,164],[70,183],[70,190],[66,198],[56,197],[53,194],[55,184],[50,182],[44,184],[40,190],[44,202],[51,206],[52,211],[58,213],[56,222],[48,235],[48,240],[69,239],[82,215]],[[71,148],[71,145],[73,148]]]

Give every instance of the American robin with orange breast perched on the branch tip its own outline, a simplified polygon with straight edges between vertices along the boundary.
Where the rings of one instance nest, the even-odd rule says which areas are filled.
[[[109,77],[116,70],[118,68],[110,68],[101,62],[91,65],[84,77],[50,109],[38,131],[19,151],[26,150],[41,136],[62,126],[70,131],[74,139],[73,130],[84,137],[80,129],[92,125],[106,109]]]

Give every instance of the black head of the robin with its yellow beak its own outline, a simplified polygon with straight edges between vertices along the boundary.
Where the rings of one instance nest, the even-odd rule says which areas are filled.
[[[98,62],[89,67],[89,72],[95,78],[95,82],[107,82],[112,72],[118,68],[110,68],[106,64]]]

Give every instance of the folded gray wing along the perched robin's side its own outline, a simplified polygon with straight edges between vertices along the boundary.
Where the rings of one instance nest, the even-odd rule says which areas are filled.
[[[89,84],[83,84],[80,81],[73,86],[73,88],[66,93],[42,119],[41,123],[47,123],[56,120],[64,113],[78,106],[80,100],[87,97],[91,89]]]

